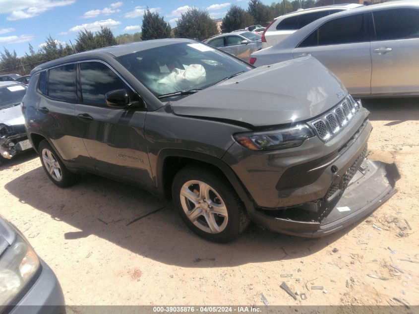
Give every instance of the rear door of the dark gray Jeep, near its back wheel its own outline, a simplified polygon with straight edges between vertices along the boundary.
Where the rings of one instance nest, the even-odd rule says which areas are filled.
[[[34,119],[29,126],[43,132],[67,167],[89,170],[87,153],[75,118],[76,64],[56,66],[39,75],[36,103],[26,103]],[[42,127],[41,127],[42,126]]]

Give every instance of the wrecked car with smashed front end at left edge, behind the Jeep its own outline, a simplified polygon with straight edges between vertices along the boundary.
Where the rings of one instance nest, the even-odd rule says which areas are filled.
[[[21,83],[0,82],[0,164],[32,148],[19,106],[25,93],[26,86]]]

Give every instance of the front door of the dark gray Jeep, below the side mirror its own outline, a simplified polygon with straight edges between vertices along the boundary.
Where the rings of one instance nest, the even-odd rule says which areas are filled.
[[[139,96],[109,65],[79,63],[78,127],[96,172],[135,184],[151,185],[152,176],[144,138],[145,106]],[[107,106],[105,94],[125,89],[135,108]]]

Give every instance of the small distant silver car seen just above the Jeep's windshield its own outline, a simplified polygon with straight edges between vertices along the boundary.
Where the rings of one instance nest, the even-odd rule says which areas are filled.
[[[204,40],[204,43],[247,62],[251,53],[262,48],[262,36],[253,32],[240,31],[217,35]]]

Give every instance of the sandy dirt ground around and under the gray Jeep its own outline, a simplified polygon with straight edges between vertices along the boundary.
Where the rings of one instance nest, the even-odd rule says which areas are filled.
[[[419,100],[364,105],[374,126],[369,158],[397,163],[399,191],[326,238],[251,225],[233,243],[209,243],[171,203],[138,188],[94,175],[57,188],[35,153],[0,166],[0,215],[53,268],[68,305],[263,305],[261,294],[270,305],[395,305],[394,297],[419,305]],[[283,281],[307,299],[295,301]]]

